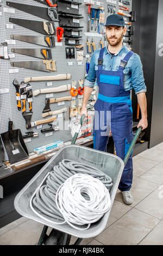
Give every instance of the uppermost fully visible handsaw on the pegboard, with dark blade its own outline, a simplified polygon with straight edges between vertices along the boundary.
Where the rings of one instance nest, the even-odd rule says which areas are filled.
[[[58,21],[57,9],[56,8],[45,8],[45,7],[38,7],[34,5],[28,4],[20,4],[14,2],[6,2],[8,7],[15,8],[25,13],[29,13],[35,16],[38,16],[42,19],[49,20],[49,21]]]

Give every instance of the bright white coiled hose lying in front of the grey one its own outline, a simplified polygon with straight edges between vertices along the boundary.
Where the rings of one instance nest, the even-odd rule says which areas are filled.
[[[86,194],[88,199],[84,198]],[[75,174],[68,178],[57,190],[55,203],[66,223],[77,230],[86,230],[110,209],[108,189],[97,178]],[[75,225],[85,225],[79,228]]]

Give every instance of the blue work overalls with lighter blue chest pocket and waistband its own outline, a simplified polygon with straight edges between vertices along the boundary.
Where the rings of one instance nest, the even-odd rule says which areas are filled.
[[[99,53],[98,70],[96,71],[99,93],[95,104],[93,144],[96,150],[106,151],[109,134],[102,134],[107,130],[107,126],[111,126],[116,154],[123,160],[134,137],[130,91],[124,90],[123,69],[134,52],[129,51],[121,60],[118,71],[108,71],[102,69],[104,50],[105,48]],[[110,114],[107,115],[107,112]],[[133,161],[130,156],[118,188],[121,191],[130,190],[132,180]]]

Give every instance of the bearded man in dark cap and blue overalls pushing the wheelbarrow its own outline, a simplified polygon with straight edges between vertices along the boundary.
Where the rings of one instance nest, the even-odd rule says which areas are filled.
[[[97,79],[99,94],[95,104],[94,148],[106,151],[109,141],[107,131],[111,124],[116,154],[124,159],[133,140],[130,91],[134,88],[141,109],[142,118],[137,128],[142,126],[145,129],[148,126],[146,85],[139,55],[123,45],[122,38],[127,32],[123,17],[117,14],[110,15],[107,17],[105,26],[109,44],[108,47],[93,52],[89,74],[84,84],[82,114],[87,113],[87,100]],[[108,112],[110,115],[107,114]],[[126,204],[133,203],[130,193],[132,180],[133,162],[130,156],[118,187]]]

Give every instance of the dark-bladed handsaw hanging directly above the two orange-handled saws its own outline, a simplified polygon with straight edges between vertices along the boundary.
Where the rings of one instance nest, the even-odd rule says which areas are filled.
[[[39,32],[41,34],[55,35],[56,33],[54,22],[49,22],[49,21],[42,22],[42,21],[22,20],[22,19],[14,19],[14,18],[9,18],[9,21],[16,25]]]

